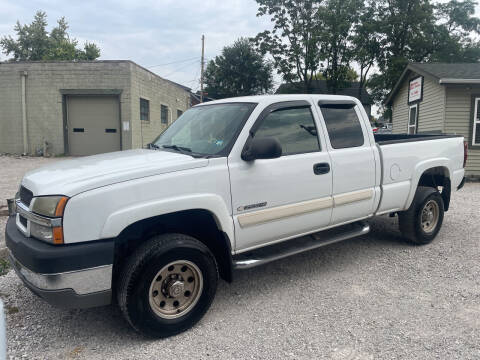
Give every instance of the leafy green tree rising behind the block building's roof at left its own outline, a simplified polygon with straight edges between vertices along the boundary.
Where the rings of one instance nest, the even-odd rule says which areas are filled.
[[[65,18],[60,18],[50,33],[46,28],[46,13],[37,11],[31,24],[22,25],[17,21],[16,39],[3,36],[0,47],[7,56],[13,55],[12,61],[95,60],[100,57],[100,49],[93,43],[86,42],[83,49],[77,47],[78,41],[67,33]]]

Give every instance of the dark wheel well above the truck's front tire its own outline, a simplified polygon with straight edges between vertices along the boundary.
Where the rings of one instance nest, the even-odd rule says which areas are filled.
[[[219,229],[214,215],[203,209],[179,211],[151,217],[129,225],[115,242],[114,273],[143,241],[153,235],[180,233],[204,243],[215,256],[220,277],[232,281],[232,252],[228,235]]]

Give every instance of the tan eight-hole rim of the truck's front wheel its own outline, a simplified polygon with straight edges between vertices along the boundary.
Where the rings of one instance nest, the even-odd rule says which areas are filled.
[[[193,309],[202,290],[198,266],[187,260],[173,261],[153,278],[148,292],[150,307],[161,318],[175,319]]]

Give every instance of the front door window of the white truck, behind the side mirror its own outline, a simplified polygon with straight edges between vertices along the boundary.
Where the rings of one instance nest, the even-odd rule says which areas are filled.
[[[320,151],[317,128],[309,107],[276,110],[263,119],[255,138],[276,138],[282,155]]]

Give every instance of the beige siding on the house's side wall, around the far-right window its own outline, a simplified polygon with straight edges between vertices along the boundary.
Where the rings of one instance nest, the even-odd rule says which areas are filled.
[[[472,131],[472,95],[480,97],[480,87],[448,87],[445,132],[463,135],[470,141]],[[467,175],[480,176],[480,149],[468,149]]]

